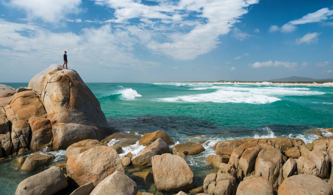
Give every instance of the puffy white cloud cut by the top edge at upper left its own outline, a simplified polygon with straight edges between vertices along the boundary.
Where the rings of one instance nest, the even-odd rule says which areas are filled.
[[[40,18],[54,23],[70,13],[80,12],[80,4],[81,0],[10,0],[7,5],[24,10],[29,19]]]

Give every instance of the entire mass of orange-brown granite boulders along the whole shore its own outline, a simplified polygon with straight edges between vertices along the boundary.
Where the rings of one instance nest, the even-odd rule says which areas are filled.
[[[0,87],[0,157],[34,152],[13,160],[17,170],[48,167],[23,180],[17,195],[333,195],[333,136],[307,144],[285,137],[219,141],[202,177],[186,162],[205,150],[202,142],[174,145],[160,130],[113,133],[74,70],[51,65],[27,88]],[[133,145],[144,149],[125,154]],[[67,149],[67,161],[50,165],[53,155],[36,152],[45,147]],[[142,186],[150,189],[140,192]]]

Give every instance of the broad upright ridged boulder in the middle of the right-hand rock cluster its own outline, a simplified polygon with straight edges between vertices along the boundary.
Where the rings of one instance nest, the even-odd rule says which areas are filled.
[[[262,149],[255,162],[255,176],[267,179],[277,190],[283,180],[282,154],[275,148]]]

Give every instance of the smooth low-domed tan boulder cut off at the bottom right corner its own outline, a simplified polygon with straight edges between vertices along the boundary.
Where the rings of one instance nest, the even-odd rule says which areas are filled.
[[[289,194],[322,194],[332,195],[331,186],[324,180],[310,174],[294,175],[286,178],[281,183],[277,193]]]

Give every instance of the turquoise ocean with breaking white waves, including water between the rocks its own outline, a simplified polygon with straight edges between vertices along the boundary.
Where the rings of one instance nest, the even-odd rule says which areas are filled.
[[[14,88],[28,85],[3,84]],[[87,85],[117,131],[143,135],[163,130],[175,143],[202,141],[206,150],[185,158],[197,185],[202,185],[212,169],[205,159],[214,154],[211,146],[217,141],[283,136],[309,143],[319,136],[306,133],[308,130],[333,127],[333,87],[169,82]],[[203,136],[189,138],[190,135]],[[123,154],[138,154],[142,149],[132,145],[125,147]],[[64,160],[63,150],[54,153],[54,162]],[[0,180],[5,186],[0,188],[0,194],[13,194],[17,184],[33,174],[36,172],[17,171],[11,161],[1,162]],[[154,185],[138,185],[141,191],[154,190]]]

